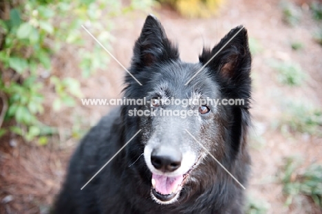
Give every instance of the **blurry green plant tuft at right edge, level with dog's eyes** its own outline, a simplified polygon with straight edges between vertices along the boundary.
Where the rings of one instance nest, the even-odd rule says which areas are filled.
[[[322,136],[322,109],[309,103],[289,101],[281,118],[281,129]]]

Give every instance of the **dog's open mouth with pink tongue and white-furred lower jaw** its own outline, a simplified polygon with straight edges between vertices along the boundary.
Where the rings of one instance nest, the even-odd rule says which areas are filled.
[[[175,177],[152,173],[151,195],[154,197],[154,200],[160,204],[171,204],[175,202],[178,199],[187,178],[189,178],[191,171],[196,165],[197,162],[187,173]]]

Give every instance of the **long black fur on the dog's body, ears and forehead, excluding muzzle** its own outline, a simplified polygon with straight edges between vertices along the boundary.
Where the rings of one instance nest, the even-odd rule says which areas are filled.
[[[191,125],[189,130],[246,186],[250,171],[246,136],[251,97],[251,57],[246,29],[184,85],[241,28],[231,30],[212,50],[204,49],[200,63],[191,64],[180,61],[178,48],[167,39],[160,22],[150,15],[133,48],[129,68],[142,86],[127,75],[124,96],[149,98],[155,86],[166,85],[164,91],[169,96],[184,97],[193,91],[213,98],[243,98],[245,105],[217,106],[217,114],[209,114],[202,125]],[[211,156],[205,156],[193,169],[189,175],[191,181],[184,185],[178,202],[154,202],[150,196],[151,172],[142,153],[144,144],[158,127],[151,117],[129,116],[128,111],[134,107],[149,109],[123,105],[103,117],[81,140],[52,213],[244,213],[244,189]],[[142,131],[138,136],[81,190],[139,129]],[[190,137],[178,138],[184,143]]]

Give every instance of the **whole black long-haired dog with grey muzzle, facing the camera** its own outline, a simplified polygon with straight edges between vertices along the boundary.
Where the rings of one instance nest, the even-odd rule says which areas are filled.
[[[142,85],[127,75],[124,96],[151,103],[122,105],[87,133],[54,213],[244,213],[240,184],[246,185],[250,170],[250,64],[241,26],[192,64],[180,60],[178,48],[149,15],[129,69]],[[173,105],[173,98],[222,103]],[[225,105],[224,99],[244,103]]]

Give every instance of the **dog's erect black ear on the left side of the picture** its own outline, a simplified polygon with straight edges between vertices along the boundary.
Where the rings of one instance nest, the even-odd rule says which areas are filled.
[[[133,49],[132,65],[151,66],[159,61],[179,58],[178,48],[171,45],[164,29],[153,15],[145,20],[140,37]]]

